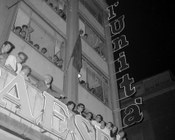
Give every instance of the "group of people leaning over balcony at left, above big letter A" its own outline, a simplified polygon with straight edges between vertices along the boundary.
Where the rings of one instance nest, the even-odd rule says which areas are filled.
[[[15,49],[15,45],[13,45],[9,41],[5,41],[2,46],[0,47],[0,64],[1,66],[5,67],[11,75],[22,75],[26,81],[31,83],[33,86],[38,88],[41,92],[46,91],[53,95],[55,98],[59,99],[62,102],[65,102],[66,97],[60,96],[57,91],[52,88],[53,76],[46,74],[43,76],[42,79],[38,80],[37,82],[33,83],[31,80],[31,73],[32,69],[26,65],[26,61],[28,60],[27,54],[24,52],[18,52],[17,55],[12,54],[11,52]],[[8,75],[8,72],[3,72],[4,76],[3,83],[8,83],[8,79],[5,76]],[[9,75],[10,76],[10,75]],[[1,81],[2,82],[2,81]]]

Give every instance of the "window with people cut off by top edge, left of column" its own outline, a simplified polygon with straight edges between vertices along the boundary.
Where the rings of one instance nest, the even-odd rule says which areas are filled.
[[[45,0],[45,2],[64,20],[66,20],[66,8],[64,0]]]

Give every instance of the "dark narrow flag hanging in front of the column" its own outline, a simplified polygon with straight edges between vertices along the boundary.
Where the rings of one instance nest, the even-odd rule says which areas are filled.
[[[82,45],[81,45],[81,37],[80,35],[78,36],[73,52],[72,52],[72,56],[73,59],[73,66],[75,67],[75,69],[80,72],[81,68],[82,68]]]

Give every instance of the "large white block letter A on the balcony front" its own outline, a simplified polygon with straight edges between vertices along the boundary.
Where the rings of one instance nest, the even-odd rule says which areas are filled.
[[[9,92],[16,88],[16,96],[9,94]],[[27,95],[26,84],[23,76],[17,75],[5,88],[0,92],[0,105],[5,107],[4,99],[12,102],[19,107],[17,114],[28,119],[33,120],[31,113],[29,98]]]

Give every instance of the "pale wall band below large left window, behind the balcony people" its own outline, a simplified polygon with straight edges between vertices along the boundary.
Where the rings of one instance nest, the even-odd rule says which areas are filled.
[[[39,77],[43,77],[43,75],[46,74],[52,75],[54,77],[53,85],[62,94],[64,78],[63,71],[14,32],[10,32],[8,40],[16,46],[14,51],[12,51],[12,54],[16,55],[20,51],[26,53],[28,55],[26,64],[31,67],[32,71]]]

